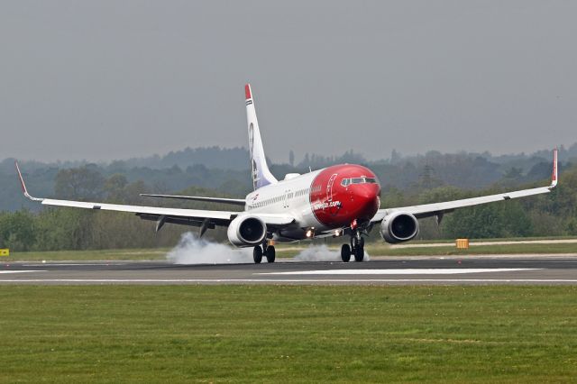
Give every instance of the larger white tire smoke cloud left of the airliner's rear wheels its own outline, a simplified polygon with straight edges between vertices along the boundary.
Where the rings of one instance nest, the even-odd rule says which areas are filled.
[[[179,244],[169,251],[167,259],[175,264],[244,264],[252,263],[252,248],[233,249],[217,242],[198,239],[183,233]],[[263,258],[266,262],[266,258]]]

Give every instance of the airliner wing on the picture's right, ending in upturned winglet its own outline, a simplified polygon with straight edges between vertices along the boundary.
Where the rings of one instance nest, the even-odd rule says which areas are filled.
[[[385,216],[390,215],[394,212],[401,212],[401,211],[415,215],[417,219],[430,216],[437,216],[437,220],[440,221],[440,219],[443,217],[445,213],[453,212],[453,210],[463,208],[465,206],[478,206],[481,204],[493,203],[501,200],[510,200],[512,198],[529,197],[549,193],[554,189],[554,187],[557,186],[557,180],[558,180],[557,150],[555,149],[553,156],[553,174],[551,177],[551,184],[548,187],[522,189],[513,192],[500,193],[497,195],[463,198],[461,200],[424,204],[421,206],[401,206],[395,208],[385,208],[377,211],[377,214],[371,219],[371,222],[380,222],[383,218],[385,218]]]

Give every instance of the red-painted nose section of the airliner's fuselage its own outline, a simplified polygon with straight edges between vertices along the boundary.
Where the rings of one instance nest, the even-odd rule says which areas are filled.
[[[316,220],[330,228],[348,226],[355,219],[371,220],[380,206],[380,185],[342,185],[344,178],[362,177],[376,178],[371,169],[353,164],[328,167],[316,175],[309,195]]]

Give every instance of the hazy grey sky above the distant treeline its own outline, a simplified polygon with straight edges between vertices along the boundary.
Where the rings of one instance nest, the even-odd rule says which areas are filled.
[[[575,1],[0,1],[0,159],[577,142]]]

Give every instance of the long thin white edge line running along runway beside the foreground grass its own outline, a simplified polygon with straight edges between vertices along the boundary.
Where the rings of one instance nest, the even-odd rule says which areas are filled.
[[[0,283],[577,283],[577,279],[0,279]]]

